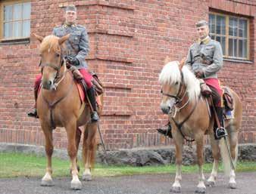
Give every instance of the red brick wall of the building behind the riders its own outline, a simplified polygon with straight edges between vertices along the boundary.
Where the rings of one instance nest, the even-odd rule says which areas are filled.
[[[72,1],[68,1],[72,2]],[[108,149],[163,146],[172,143],[156,134],[164,125],[158,74],[164,57],[186,56],[195,40],[195,22],[209,11],[250,18],[251,61],[255,58],[254,1],[73,1],[78,23],[89,32],[87,61],[105,83],[101,131]],[[31,32],[48,35],[64,20],[66,1],[32,1]],[[27,117],[33,106],[33,82],[39,73],[39,42],[0,46],[0,142],[42,145],[39,122]],[[221,82],[242,98],[243,120],[239,143],[256,143],[256,69],[254,63],[224,61]],[[63,128],[54,132],[55,146],[66,147]]]

